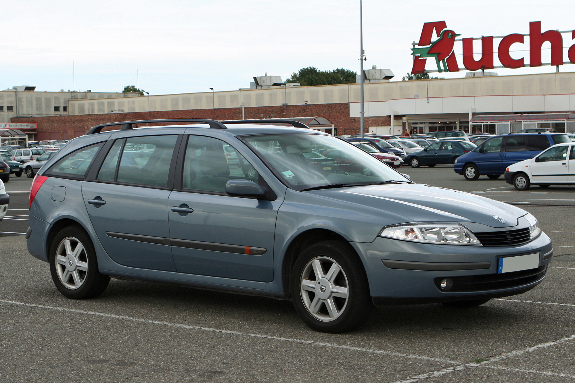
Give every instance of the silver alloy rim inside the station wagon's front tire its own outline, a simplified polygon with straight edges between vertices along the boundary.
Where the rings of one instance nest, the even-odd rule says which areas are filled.
[[[305,308],[321,321],[332,321],[342,314],[347,305],[347,289],[346,274],[327,256],[309,261],[301,275],[300,293]]]

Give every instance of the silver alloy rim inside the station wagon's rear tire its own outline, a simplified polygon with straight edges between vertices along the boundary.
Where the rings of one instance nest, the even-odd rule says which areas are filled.
[[[82,243],[74,237],[64,238],[56,251],[56,273],[60,282],[68,289],[78,289],[87,272],[88,258]]]

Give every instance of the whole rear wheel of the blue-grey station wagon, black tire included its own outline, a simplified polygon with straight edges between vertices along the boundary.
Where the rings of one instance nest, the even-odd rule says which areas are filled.
[[[78,249],[81,251],[78,252],[77,256],[67,254],[64,244],[66,241],[70,244],[71,250],[76,250],[77,246],[81,244],[83,251]],[[60,258],[58,261],[57,255],[59,254],[67,255],[66,258]],[[50,246],[49,263],[50,273],[56,288],[67,298],[97,297],[104,292],[110,282],[110,277],[100,274],[98,270],[96,252],[90,237],[78,226],[67,226],[54,236]]]

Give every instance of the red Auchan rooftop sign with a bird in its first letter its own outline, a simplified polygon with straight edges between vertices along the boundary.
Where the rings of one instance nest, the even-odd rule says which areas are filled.
[[[434,37],[434,31],[437,40],[431,41]],[[445,21],[425,22],[419,43],[413,44],[412,55],[413,68],[411,72],[458,72],[460,70],[486,70],[494,68],[520,68],[525,66],[540,67],[542,65],[559,66],[563,64],[575,64],[575,44],[571,45],[567,52],[568,62],[563,62],[563,36],[562,33],[569,33],[571,39],[575,39],[575,30],[547,30],[541,32],[541,22],[532,21],[529,23],[529,33],[522,35],[512,33],[507,36],[482,36],[478,38],[465,37],[456,39],[458,35],[451,29],[447,29]],[[529,37],[529,64],[525,64],[525,58],[513,59],[509,53],[511,45],[515,43],[524,44],[525,36]],[[494,40],[500,40],[497,52],[493,51]],[[481,40],[481,58],[476,60],[473,57],[473,40]],[[458,59],[455,55],[455,43],[462,42],[463,51],[463,68],[459,67]],[[551,44],[551,62],[541,62],[541,47],[543,43],[549,41]],[[497,53],[497,59],[501,65],[494,65],[494,55]],[[427,59],[434,59],[437,70],[425,70]],[[459,59],[461,60],[461,59]]]

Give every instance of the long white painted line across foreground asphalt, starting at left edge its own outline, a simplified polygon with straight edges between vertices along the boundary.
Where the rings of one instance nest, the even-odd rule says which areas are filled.
[[[69,309],[69,308],[65,308],[65,307],[44,306],[44,305],[26,303],[26,302],[7,301],[7,300],[3,300],[3,299],[0,299],[0,303],[27,306],[27,307],[36,307],[36,308],[43,308],[43,309],[51,309],[51,310],[58,310],[58,311],[65,311],[65,312],[74,312],[74,313],[79,313],[79,314],[94,315],[94,316],[108,317],[108,318],[114,318],[114,319],[123,319],[123,320],[128,320],[128,321],[139,322],[139,323],[160,324],[160,325],[170,326],[170,327],[187,328],[189,330],[221,332],[222,334],[251,336],[253,338],[260,338],[260,339],[282,340],[283,342],[312,344],[314,346],[324,346],[324,347],[333,347],[333,348],[343,348],[344,350],[361,351],[362,353],[389,355],[392,357],[411,358],[411,359],[423,359],[425,361],[450,363],[453,365],[458,365],[459,363],[461,363],[461,362],[456,362],[456,361],[450,361],[448,359],[443,359],[443,358],[431,358],[431,357],[422,357],[421,355],[408,355],[408,354],[401,354],[401,353],[393,353],[392,351],[372,350],[371,348],[345,346],[343,344],[315,342],[314,340],[301,340],[301,339],[283,338],[281,336],[273,336],[273,335],[250,334],[248,332],[240,332],[240,331],[232,331],[232,330],[218,330],[217,328],[192,326],[192,325],[187,325],[187,324],[171,323],[171,322],[164,322],[164,321],[152,320],[152,319],[142,319],[142,318],[136,318],[136,317],[132,317],[132,316],[114,315],[114,314],[108,314],[108,313],[97,312],[97,311],[83,311],[83,310]]]

